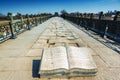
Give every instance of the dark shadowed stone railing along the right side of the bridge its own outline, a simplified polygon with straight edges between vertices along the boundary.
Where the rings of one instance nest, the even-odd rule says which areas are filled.
[[[105,20],[105,19],[94,19],[94,18],[82,18],[71,15],[64,15],[63,18],[84,27],[87,30],[96,32],[101,37],[107,37],[109,39],[120,42],[120,21]]]

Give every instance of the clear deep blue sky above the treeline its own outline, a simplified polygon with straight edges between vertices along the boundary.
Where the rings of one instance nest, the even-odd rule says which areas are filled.
[[[107,12],[120,10],[120,0],[0,0],[0,13]]]

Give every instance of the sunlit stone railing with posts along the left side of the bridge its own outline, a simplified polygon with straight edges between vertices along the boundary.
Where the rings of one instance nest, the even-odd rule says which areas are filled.
[[[0,43],[10,38],[15,39],[18,34],[26,30],[31,30],[33,27],[43,23],[51,17],[51,15],[46,15],[42,17],[39,16],[29,18],[29,15],[27,15],[27,18],[25,19],[23,19],[23,17],[20,16],[20,19],[13,20],[13,16],[10,16],[10,21],[0,23]]]

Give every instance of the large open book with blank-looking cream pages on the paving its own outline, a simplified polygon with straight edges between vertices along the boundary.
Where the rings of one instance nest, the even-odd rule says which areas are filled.
[[[39,70],[45,76],[93,76],[97,66],[89,48],[59,46],[44,49]]]

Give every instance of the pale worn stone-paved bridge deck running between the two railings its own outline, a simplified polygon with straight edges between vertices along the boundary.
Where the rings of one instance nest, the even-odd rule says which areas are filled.
[[[64,29],[61,28],[64,26]],[[57,31],[61,30],[66,38]],[[60,29],[61,28],[61,29]],[[61,34],[57,35],[57,34]],[[94,77],[38,78],[43,48],[54,46],[87,46],[94,50],[93,59],[98,67]],[[97,40],[78,30],[61,18],[51,18],[16,39],[0,44],[0,80],[120,80],[120,55]]]

